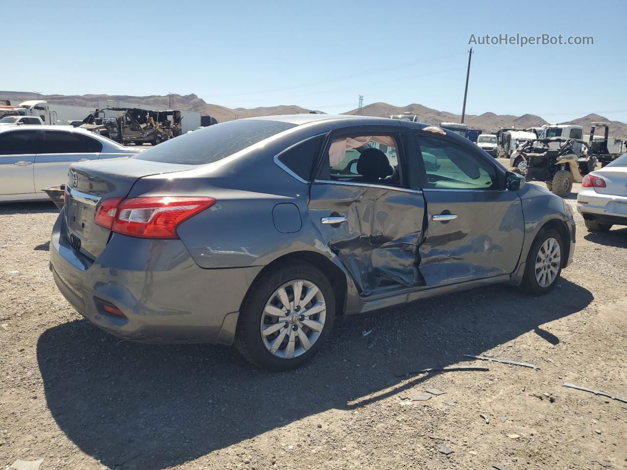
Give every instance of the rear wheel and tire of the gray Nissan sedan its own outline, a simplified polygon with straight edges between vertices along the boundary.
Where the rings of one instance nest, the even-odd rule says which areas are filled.
[[[246,294],[235,345],[257,367],[292,370],[314,357],[334,319],[334,291],[325,275],[308,263],[281,264]]]

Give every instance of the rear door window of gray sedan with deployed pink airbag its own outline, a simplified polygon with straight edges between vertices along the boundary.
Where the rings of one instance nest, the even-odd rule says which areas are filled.
[[[332,180],[402,185],[394,135],[334,138],[328,152]]]

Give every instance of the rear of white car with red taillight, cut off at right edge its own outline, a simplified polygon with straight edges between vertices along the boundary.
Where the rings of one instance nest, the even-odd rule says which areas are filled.
[[[627,154],[584,176],[577,196],[577,212],[592,232],[627,225]]]

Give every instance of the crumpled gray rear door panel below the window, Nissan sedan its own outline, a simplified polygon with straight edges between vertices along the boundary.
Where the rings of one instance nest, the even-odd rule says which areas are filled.
[[[361,295],[370,295],[381,285],[420,285],[418,245],[424,218],[420,191],[318,183],[312,185],[309,211],[315,219],[346,217],[334,226],[321,224],[321,233]]]

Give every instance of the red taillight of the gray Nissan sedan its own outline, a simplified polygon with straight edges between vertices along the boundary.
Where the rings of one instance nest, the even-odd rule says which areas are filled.
[[[176,227],[213,206],[213,197],[132,197],[105,199],[95,222],[112,231],[141,238],[179,238]]]

